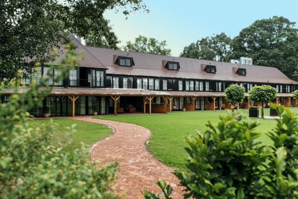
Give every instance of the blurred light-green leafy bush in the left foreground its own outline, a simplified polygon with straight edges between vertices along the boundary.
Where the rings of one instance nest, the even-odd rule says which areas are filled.
[[[64,66],[50,67],[67,74],[73,67],[66,66],[77,65],[77,61],[76,57],[66,54],[61,62]],[[62,76],[57,77],[50,71],[47,75],[54,82],[61,80]],[[84,145],[73,155],[64,150],[66,144],[51,146],[51,138],[57,131],[52,123],[35,129],[28,127],[30,114],[26,110],[51,91],[44,76],[40,81],[44,89],[38,90],[32,82],[23,93],[18,93],[20,79],[13,79],[7,85],[1,82],[1,95],[6,90],[13,90],[15,94],[0,106],[0,198],[114,197],[107,186],[115,178],[117,162],[101,167],[99,163],[91,165]],[[75,132],[74,127],[69,129]]]

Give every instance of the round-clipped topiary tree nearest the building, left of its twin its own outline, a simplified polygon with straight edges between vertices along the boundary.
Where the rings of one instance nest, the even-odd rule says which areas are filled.
[[[236,84],[231,84],[229,87],[226,88],[225,95],[226,101],[229,104],[234,105],[235,107],[236,103],[243,103],[243,100],[245,98],[245,88]]]

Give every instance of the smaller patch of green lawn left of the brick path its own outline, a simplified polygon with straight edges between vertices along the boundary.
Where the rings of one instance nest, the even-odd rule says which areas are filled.
[[[72,139],[72,144],[68,145],[66,150],[72,152],[76,148],[81,147],[81,142],[91,146],[91,144],[96,143],[108,137],[111,134],[111,129],[103,124],[96,124],[85,121],[72,120],[67,118],[53,118],[55,124],[57,124],[58,132],[55,133],[52,145],[57,146],[58,141],[61,143],[66,143],[69,139]],[[49,124],[49,119],[35,119],[29,120],[29,127],[38,127],[42,124]],[[75,129],[77,132],[70,134],[65,137],[66,134],[70,132],[67,127],[71,127],[73,124],[77,124]]]

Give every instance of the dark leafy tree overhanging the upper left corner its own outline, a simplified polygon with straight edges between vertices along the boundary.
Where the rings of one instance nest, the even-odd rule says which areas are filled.
[[[117,49],[119,41],[103,16],[110,9],[122,10],[125,16],[137,10],[148,12],[142,0],[1,1],[0,78],[12,79],[19,69],[27,76],[36,61],[51,61],[53,48],[71,42],[69,32],[94,46]]]

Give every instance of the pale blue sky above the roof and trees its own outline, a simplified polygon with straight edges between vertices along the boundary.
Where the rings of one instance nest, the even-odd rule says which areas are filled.
[[[149,13],[135,12],[125,16],[114,10],[104,13],[121,41],[134,41],[139,35],[166,40],[171,55],[179,56],[183,48],[202,37],[225,32],[237,36],[254,21],[283,16],[298,22],[297,0],[143,0]],[[298,28],[298,24],[296,25]]]

